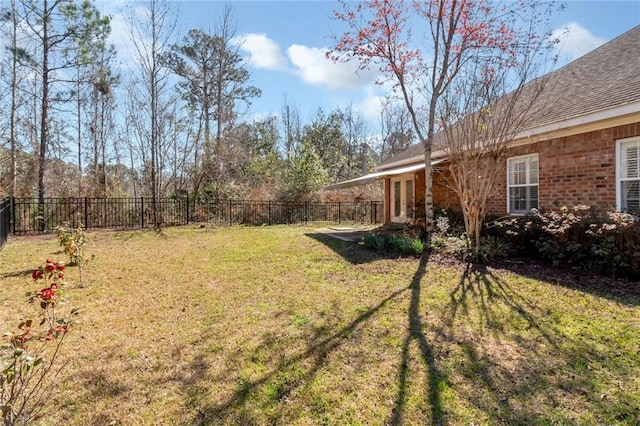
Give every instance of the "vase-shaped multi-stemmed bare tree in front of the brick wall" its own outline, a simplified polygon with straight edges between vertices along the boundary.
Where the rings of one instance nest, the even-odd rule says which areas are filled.
[[[438,115],[449,164],[444,177],[460,200],[467,237],[480,249],[487,204],[510,143],[545,108],[547,79],[535,79],[549,63],[551,44],[532,38],[517,55],[470,60],[444,96]]]

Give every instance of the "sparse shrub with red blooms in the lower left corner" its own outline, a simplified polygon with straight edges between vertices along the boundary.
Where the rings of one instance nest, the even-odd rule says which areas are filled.
[[[44,281],[46,286],[27,293],[28,302],[38,306],[39,320],[21,321],[16,330],[3,336],[0,410],[7,426],[27,424],[43,415],[55,380],[65,366],[56,361],[67,332],[75,324],[71,318],[78,310],[72,309],[68,318],[58,314],[64,301],[64,270],[64,263],[47,260],[33,271],[34,283]]]

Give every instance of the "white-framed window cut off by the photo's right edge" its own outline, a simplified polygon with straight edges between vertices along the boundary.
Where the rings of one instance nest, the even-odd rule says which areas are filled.
[[[617,157],[618,209],[640,212],[640,138],[618,141]]]

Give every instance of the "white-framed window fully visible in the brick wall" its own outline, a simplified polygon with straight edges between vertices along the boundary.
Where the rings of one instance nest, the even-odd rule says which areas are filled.
[[[507,198],[511,214],[538,208],[538,154],[507,160]]]

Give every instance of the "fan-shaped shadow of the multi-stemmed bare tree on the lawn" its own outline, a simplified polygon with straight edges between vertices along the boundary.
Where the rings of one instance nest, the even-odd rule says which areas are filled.
[[[489,422],[575,423],[573,411],[584,407],[597,423],[638,420],[633,389],[602,394],[603,383],[624,377],[624,361],[612,361],[586,330],[569,334],[499,274],[469,265],[440,317],[435,339],[457,353],[449,370],[466,383],[458,396]]]

